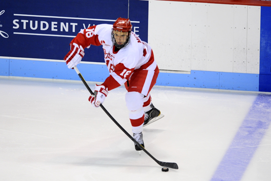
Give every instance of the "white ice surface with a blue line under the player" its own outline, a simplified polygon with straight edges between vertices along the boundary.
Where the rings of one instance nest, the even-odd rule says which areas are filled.
[[[94,84],[89,84],[93,89]],[[132,134],[125,88],[103,106]],[[271,181],[271,94],[154,87],[145,148],[81,81],[0,77],[0,181]]]

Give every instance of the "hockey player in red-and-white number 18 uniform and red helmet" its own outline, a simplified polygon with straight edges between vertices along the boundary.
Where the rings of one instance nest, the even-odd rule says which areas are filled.
[[[101,85],[95,86],[95,95],[89,97],[94,107],[99,107],[108,91],[125,84],[126,106],[132,124],[134,139],[144,147],[143,126],[162,117],[150,96],[159,69],[151,47],[132,32],[129,19],[118,18],[113,25],[101,24],[82,29],[70,42],[70,51],[65,56],[68,68],[80,63],[84,49],[90,45],[102,45],[104,61],[109,76]],[[141,150],[135,145],[136,150]]]

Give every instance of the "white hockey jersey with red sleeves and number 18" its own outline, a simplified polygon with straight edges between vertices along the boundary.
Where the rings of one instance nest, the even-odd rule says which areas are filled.
[[[113,26],[101,24],[82,29],[72,42],[83,48],[89,45],[102,45],[104,61],[110,72],[104,83],[108,90],[112,90],[124,84],[135,70],[157,71],[151,47],[142,41],[134,32],[131,32],[130,43],[115,52],[115,46],[111,40]]]

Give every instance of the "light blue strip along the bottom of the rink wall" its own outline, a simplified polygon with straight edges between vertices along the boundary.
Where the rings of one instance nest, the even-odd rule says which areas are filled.
[[[0,60],[5,65],[7,64],[7,59]],[[67,68],[64,61],[51,62],[10,59],[8,69],[5,68],[6,71],[3,72],[9,71],[9,74],[5,73],[2,75],[80,80],[74,70]],[[79,64],[78,69],[86,81],[103,82],[109,76],[106,65]],[[160,72],[155,85],[259,91],[259,74],[209,71],[191,71],[191,74]]]

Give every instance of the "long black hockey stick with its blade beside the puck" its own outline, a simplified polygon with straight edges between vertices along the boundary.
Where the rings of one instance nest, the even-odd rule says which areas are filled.
[[[94,93],[92,92],[92,90],[90,89],[90,87],[88,86],[87,82],[85,81],[85,79],[83,78],[83,76],[81,75],[81,73],[79,72],[79,70],[77,69],[77,67],[74,67],[74,70],[76,71],[76,73],[79,75],[79,77],[81,78],[82,82],[85,84],[86,88],[88,89],[88,91],[94,95]],[[139,146],[145,153],[147,153],[147,155],[149,155],[156,163],[158,163],[160,166],[163,167],[168,167],[171,169],[178,169],[178,165],[176,163],[169,163],[169,162],[162,162],[157,160],[156,158],[154,158],[143,146],[141,146],[140,144],[138,144],[135,139],[113,118],[113,116],[111,116],[111,114],[102,106],[102,104],[100,105],[100,107],[102,108],[102,110],[112,119],[112,121],[137,145]]]

